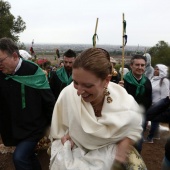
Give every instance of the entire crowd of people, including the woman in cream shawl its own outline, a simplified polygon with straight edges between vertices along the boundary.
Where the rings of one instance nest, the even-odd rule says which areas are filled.
[[[168,67],[153,68],[146,53],[118,71],[102,48],[78,56],[68,49],[60,64],[44,72],[11,39],[0,39],[0,135],[5,146],[16,146],[16,170],[42,169],[35,148],[47,129],[50,170],[147,169],[142,144],[153,143],[159,122],[170,122]],[[162,170],[170,168],[169,153],[168,139]]]

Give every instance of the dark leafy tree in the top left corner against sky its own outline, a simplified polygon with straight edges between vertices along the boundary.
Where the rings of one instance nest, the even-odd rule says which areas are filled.
[[[0,38],[8,37],[17,42],[19,34],[26,29],[26,24],[20,16],[15,18],[10,9],[9,2],[0,0]]]

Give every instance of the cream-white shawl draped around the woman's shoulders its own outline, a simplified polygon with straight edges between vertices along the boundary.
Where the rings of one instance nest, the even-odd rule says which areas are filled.
[[[87,150],[94,150],[125,137],[137,141],[142,132],[142,109],[124,88],[109,83],[108,91],[112,103],[105,98],[102,117],[97,119],[90,103],[77,95],[73,83],[60,94],[53,111],[51,134],[60,139],[66,130],[75,144]]]

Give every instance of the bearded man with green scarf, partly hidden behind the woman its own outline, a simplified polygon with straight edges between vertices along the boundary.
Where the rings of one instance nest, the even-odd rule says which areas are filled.
[[[76,53],[71,49],[67,50],[63,55],[64,67],[59,68],[51,76],[50,87],[56,100],[63,88],[72,82],[72,65],[75,58]]]

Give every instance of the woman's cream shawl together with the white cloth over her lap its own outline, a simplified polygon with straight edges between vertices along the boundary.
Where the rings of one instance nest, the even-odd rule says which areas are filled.
[[[112,103],[104,100],[102,117],[95,117],[90,103],[77,95],[73,83],[60,94],[53,111],[50,170],[111,170],[117,142],[125,137],[137,141],[142,132],[142,109],[124,88],[110,82]],[[61,144],[69,131],[77,147]]]

